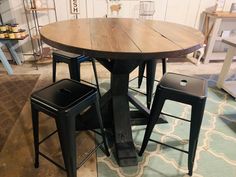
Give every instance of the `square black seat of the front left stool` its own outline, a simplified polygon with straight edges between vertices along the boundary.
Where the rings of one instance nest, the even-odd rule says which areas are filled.
[[[32,99],[39,104],[47,104],[58,110],[76,105],[85,97],[92,95],[96,89],[76,81],[63,79],[32,94]]]

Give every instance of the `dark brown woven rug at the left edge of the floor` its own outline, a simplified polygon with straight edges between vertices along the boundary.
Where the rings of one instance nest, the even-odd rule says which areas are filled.
[[[39,75],[0,75],[0,151]]]

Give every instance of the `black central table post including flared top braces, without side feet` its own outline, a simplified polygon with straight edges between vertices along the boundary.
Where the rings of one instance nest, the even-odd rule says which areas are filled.
[[[107,119],[106,117],[109,116],[108,118],[112,118],[113,120],[112,128],[114,129],[114,144],[117,161],[120,166],[135,166],[137,165],[137,155],[131,131],[128,84],[129,74],[140,65],[142,61],[131,59],[98,59],[98,61],[111,72],[109,99],[103,102],[104,96],[102,96],[101,101],[103,104],[101,104],[101,106],[103,117]],[[107,110],[107,108],[112,108],[112,111]],[[109,113],[107,114],[106,111]],[[110,114],[111,112],[112,114]]]

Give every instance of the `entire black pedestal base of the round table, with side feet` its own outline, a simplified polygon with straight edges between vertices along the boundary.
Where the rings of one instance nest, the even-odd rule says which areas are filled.
[[[98,59],[97,60],[111,72],[110,90],[101,97],[100,104],[105,128],[111,128],[114,132],[114,144],[116,158],[120,166],[137,165],[137,153],[132,138],[132,125],[146,125],[150,111],[128,91],[129,74],[142,63],[142,60],[126,59]],[[131,102],[138,111],[130,111]],[[89,121],[88,117],[92,113],[83,115],[82,120],[86,127],[96,128],[97,123]],[[166,123],[159,119],[158,123]],[[84,129],[81,124],[77,124],[77,129]]]

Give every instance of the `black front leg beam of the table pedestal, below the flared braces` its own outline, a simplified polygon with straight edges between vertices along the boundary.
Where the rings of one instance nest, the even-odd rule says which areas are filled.
[[[128,74],[112,74],[112,108],[115,131],[115,146],[120,166],[137,165],[133,144],[128,102]],[[122,83],[122,84],[121,84]]]

